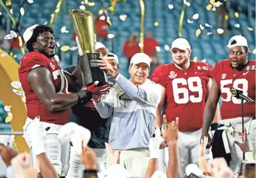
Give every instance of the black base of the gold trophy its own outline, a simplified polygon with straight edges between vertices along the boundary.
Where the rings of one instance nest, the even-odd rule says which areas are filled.
[[[99,82],[97,86],[108,84],[106,71],[102,70],[98,65],[99,57],[101,57],[99,53],[86,53],[79,58],[84,87],[92,85],[92,83],[96,81]]]

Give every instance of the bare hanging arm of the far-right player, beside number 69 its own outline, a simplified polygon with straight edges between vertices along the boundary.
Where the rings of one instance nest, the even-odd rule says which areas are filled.
[[[209,136],[208,130],[211,126],[211,123],[213,123],[219,98],[220,98],[220,89],[218,88],[217,82],[213,79],[213,85],[211,86],[210,94],[208,96],[208,99],[205,105],[204,123],[202,125],[202,136],[201,136],[201,139],[203,139],[204,136],[208,137],[209,140],[208,140],[207,148],[210,148],[211,146],[211,138]]]

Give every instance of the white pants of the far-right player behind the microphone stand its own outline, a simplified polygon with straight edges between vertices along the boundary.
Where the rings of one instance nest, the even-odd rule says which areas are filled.
[[[242,132],[242,117],[225,119],[222,120],[221,123],[231,123],[236,132]],[[252,120],[251,117],[246,117],[244,118],[244,127],[246,127],[247,130],[249,148],[253,154],[255,154],[256,121]],[[239,146],[234,143],[234,140],[242,142],[242,139],[237,133],[234,137],[227,133],[227,142],[229,142],[229,149],[232,159],[230,161],[230,168],[236,173],[239,171],[239,165],[243,160],[243,153]]]

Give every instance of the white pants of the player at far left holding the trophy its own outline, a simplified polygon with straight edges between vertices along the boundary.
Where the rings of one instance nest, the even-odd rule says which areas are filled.
[[[24,130],[24,138],[26,140],[27,145],[29,146],[30,153],[32,155],[32,165],[35,166],[36,163],[36,156],[33,155],[33,147],[32,142],[30,140],[29,129],[31,126],[31,122],[33,120],[27,118],[26,123],[23,127]],[[54,166],[55,170],[57,171],[59,176],[66,176],[68,171],[68,161],[70,156],[70,143],[65,142],[61,143],[60,140],[57,138],[58,133],[60,132],[61,125],[52,124],[52,123],[45,123],[40,121],[42,130],[46,127],[51,127],[47,135],[45,136],[45,145],[46,145],[46,155],[51,161],[52,165]]]

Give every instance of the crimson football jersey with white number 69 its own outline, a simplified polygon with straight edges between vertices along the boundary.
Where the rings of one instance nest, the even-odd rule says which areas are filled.
[[[188,70],[180,70],[174,63],[155,68],[152,80],[166,88],[167,121],[179,117],[179,130],[193,132],[202,128],[207,83],[211,77],[211,66],[193,62]]]

